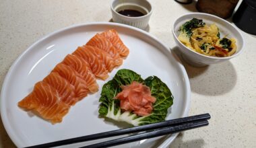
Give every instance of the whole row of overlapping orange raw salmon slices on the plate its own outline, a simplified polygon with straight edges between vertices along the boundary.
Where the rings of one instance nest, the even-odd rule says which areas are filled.
[[[107,79],[108,72],[122,65],[122,57],[128,54],[129,49],[115,30],[96,34],[87,45],[67,54],[49,75],[34,85],[33,91],[18,102],[18,106],[32,110],[53,124],[61,122],[71,106],[98,91],[96,78]],[[143,110],[138,112],[145,114]]]

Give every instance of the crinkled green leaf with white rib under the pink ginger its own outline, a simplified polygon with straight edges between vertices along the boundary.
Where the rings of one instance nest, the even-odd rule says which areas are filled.
[[[132,112],[123,111],[120,102],[114,99],[122,91],[121,85],[129,85],[132,81],[143,83],[150,87],[151,94],[156,98],[154,110],[148,116],[137,116]],[[121,69],[115,77],[102,87],[99,114],[117,121],[125,121],[134,126],[150,124],[165,120],[168,108],[172,106],[173,96],[167,85],[158,77],[151,76],[143,80],[140,75],[129,69]]]

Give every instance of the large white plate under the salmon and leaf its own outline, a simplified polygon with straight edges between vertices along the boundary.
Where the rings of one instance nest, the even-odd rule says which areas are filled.
[[[185,68],[174,58],[168,47],[147,32],[131,26],[108,22],[82,24],[64,28],[38,40],[21,54],[9,69],[1,90],[1,117],[15,145],[26,147],[123,128],[121,124],[98,117],[98,99],[101,87],[106,81],[98,80],[100,90],[77,102],[59,124],[46,122],[17,106],[17,103],[32,91],[34,84],[46,77],[65,55],[73,52],[77,46],[86,44],[96,33],[111,28],[119,32],[130,54],[121,67],[110,73],[106,81],[123,68],[141,74],[143,79],[156,75],[168,85],[174,95],[174,104],[166,119],[187,116],[191,93],[189,79]],[[159,143],[169,144],[175,137],[177,134],[171,135],[166,141],[147,139],[122,146],[155,147]],[[85,143],[73,146],[83,145]]]

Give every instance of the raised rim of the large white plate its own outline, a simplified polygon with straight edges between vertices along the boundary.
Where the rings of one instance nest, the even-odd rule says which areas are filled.
[[[61,32],[64,32],[66,30],[71,30],[73,28],[79,28],[79,27],[83,27],[83,26],[92,26],[92,25],[104,25],[104,26],[118,26],[118,27],[122,27],[122,28],[127,28],[130,30],[135,30],[141,34],[144,34],[146,36],[149,36],[150,38],[152,38],[153,40],[155,40],[158,44],[161,44],[164,48],[168,49],[168,46],[166,46],[163,42],[161,42],[160,40],[158,40],[158,38],[156,38],[154,35],[150,34],[149,32],[146,32],[144,30],[141,30],[139,28],[135,28],[133,26],[128,26],[125,24],[119,24],[119,23],[115,23],[115,22],[90,22],[90,23],[84,23],[84,24],[74,24],[71,26],[67,26],[64,28],[61,28],[59,30],[55,30],[53,32],[50,32],[49,34],[46,34],[44,36],[42,36],[42,38],[39,38],[38,40],[36,40],[33,44],[31,44],[30,46],[28,46],[28,48],[26,48],[26,50],[24,50],[24,52],[22,52],[22,54],[20,54],[18,56],[17,59],[15,59],[15,61],[11,64],[11,67],[9,67],[9,70],[7,72],[7,74],[5,75],[2,87],[1,87],[1,95],[0,95],[0,114],[1,114],[1,120],[3,122],[3,126],[5,128],[5,131],[7,132],[7,135],[9,136],[9,138],[11,139],[11,141],[15,144],[15,146],[19,147],[20,143],[18,142],[18,139],[13,135],[13,130],[11,129],[10,126],[7,126],[8,124],[8,120],[7,120],[7,112],[5,112],[5,106],[3,106],[3,104],[5,104],[5,88],[7,86],[7,82],[10,79],[10,75],[11,73],[13,73],[13,71],[15,70],[14,67],[15,65],[18,65],[18,63],[20,62],[20,60],[22,59],[22,57],[24,57],[24,55],[27,54],[27,52],[29,52],[32,48],[34,48],[34,46],[36,46],[37,44],[40,44],[40,42],[42,42],[43,40],[46,40],[47,38],[54,36],[55,34],[59,34]],[[170,50],[170,52],[172,52]],[[172,52],[174,53],[174,52]],[[187,71],[185,70],[185,67],[181,64],[181,61],[179,59],[177,60],[177,67],[179,67],[181,69],[181,71],[183,72],[183,81],[185,83],[185,88],[187,89],[187,91],[185,92],[185,94],[187,94],[186,97],[186,102],[185,102],[185,109],[183,110],[183,114],[181,117],[185,117],[188,116],[189,114],[189,108],[191,106],[191,87],[190,87],[190,82],[189,82],[189,77],[187,75]],[[176,139],[176,137],[179,135],[179,133],[175,133],[172,135],[167,135],[166,139],[164,139],[162,141],[162,144],[159,147],[167,147],[168,145],[170,145],[170,143],[172,143],[172,141],[174,141],[174,139]]]

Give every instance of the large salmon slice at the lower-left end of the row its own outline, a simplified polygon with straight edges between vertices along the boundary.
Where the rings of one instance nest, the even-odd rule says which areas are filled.
[[[57,89],[44,81],[36,83],[32,93],[18,102],[18,106],[37,112],[53,124],[61,122],[70,108],[69,105],[60,101]]]

